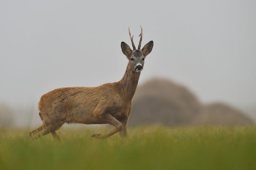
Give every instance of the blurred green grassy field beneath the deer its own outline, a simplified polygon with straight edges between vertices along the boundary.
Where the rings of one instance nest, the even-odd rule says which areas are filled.
[[[109,129],[107,129],[109,130]],[[137,127],[129,138],[92,138],[105,128],[62,128],[31,141],[0,129],[0,170],[255,170],[256,127]]]

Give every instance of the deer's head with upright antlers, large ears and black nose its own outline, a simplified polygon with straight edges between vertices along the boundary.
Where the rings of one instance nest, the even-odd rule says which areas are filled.
[[[146,56],[152,51],[153,48],[153,41],[147,42],[146,45],[140,50],[141,41],[142,41],[142,27],[141,33],[140,33],[140,40],[138,44],[138,49],[136,50],[136,47],[133,42],[133,35],[131,36],[130,28],[128,28],[129,36],[132,42],[133,50],[130,49],[129,45],[125,42],[121,42],[121,49],[124,55],[126,55],[127,59],[129,59],[129,64],[131,65],[132,71],[135,72],[141,72],[144,66],[144,60]]]

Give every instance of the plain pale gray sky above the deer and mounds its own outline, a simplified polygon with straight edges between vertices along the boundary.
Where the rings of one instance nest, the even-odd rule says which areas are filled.
[[[202,102],[256,105],[255,0],[0,0],[0,101],[37,106],[58,87],[121,79],[130,46],[154,40],[139,84],[155,76]],[[37,112],[37,111],[36,111]]]

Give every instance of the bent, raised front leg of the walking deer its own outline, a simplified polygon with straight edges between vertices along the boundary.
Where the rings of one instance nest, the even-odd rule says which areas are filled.
[[[104,114],[101,115],[101,119],[104,119],[104,121],[106,121],[106,123],[113,125],[114,127],[116,127],[115,129],[111,130],[109,133],[107,133],[106,135],[101,135],[101,134],[94,134],[91,137],[95,137],[97,139],[105,139],[111,135],[114,135],[115,133],[119,132],[120,130],[122,130],[123,125],[121,122],[119,122],[116,118],[114,118],[112,115],[110,114]]]

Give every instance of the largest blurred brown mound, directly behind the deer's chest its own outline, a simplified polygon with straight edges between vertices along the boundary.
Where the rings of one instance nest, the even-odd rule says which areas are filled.
[[[184,86],[153,79],[137,88],[128,123],[190,124],[201,110],[198,99]]]

